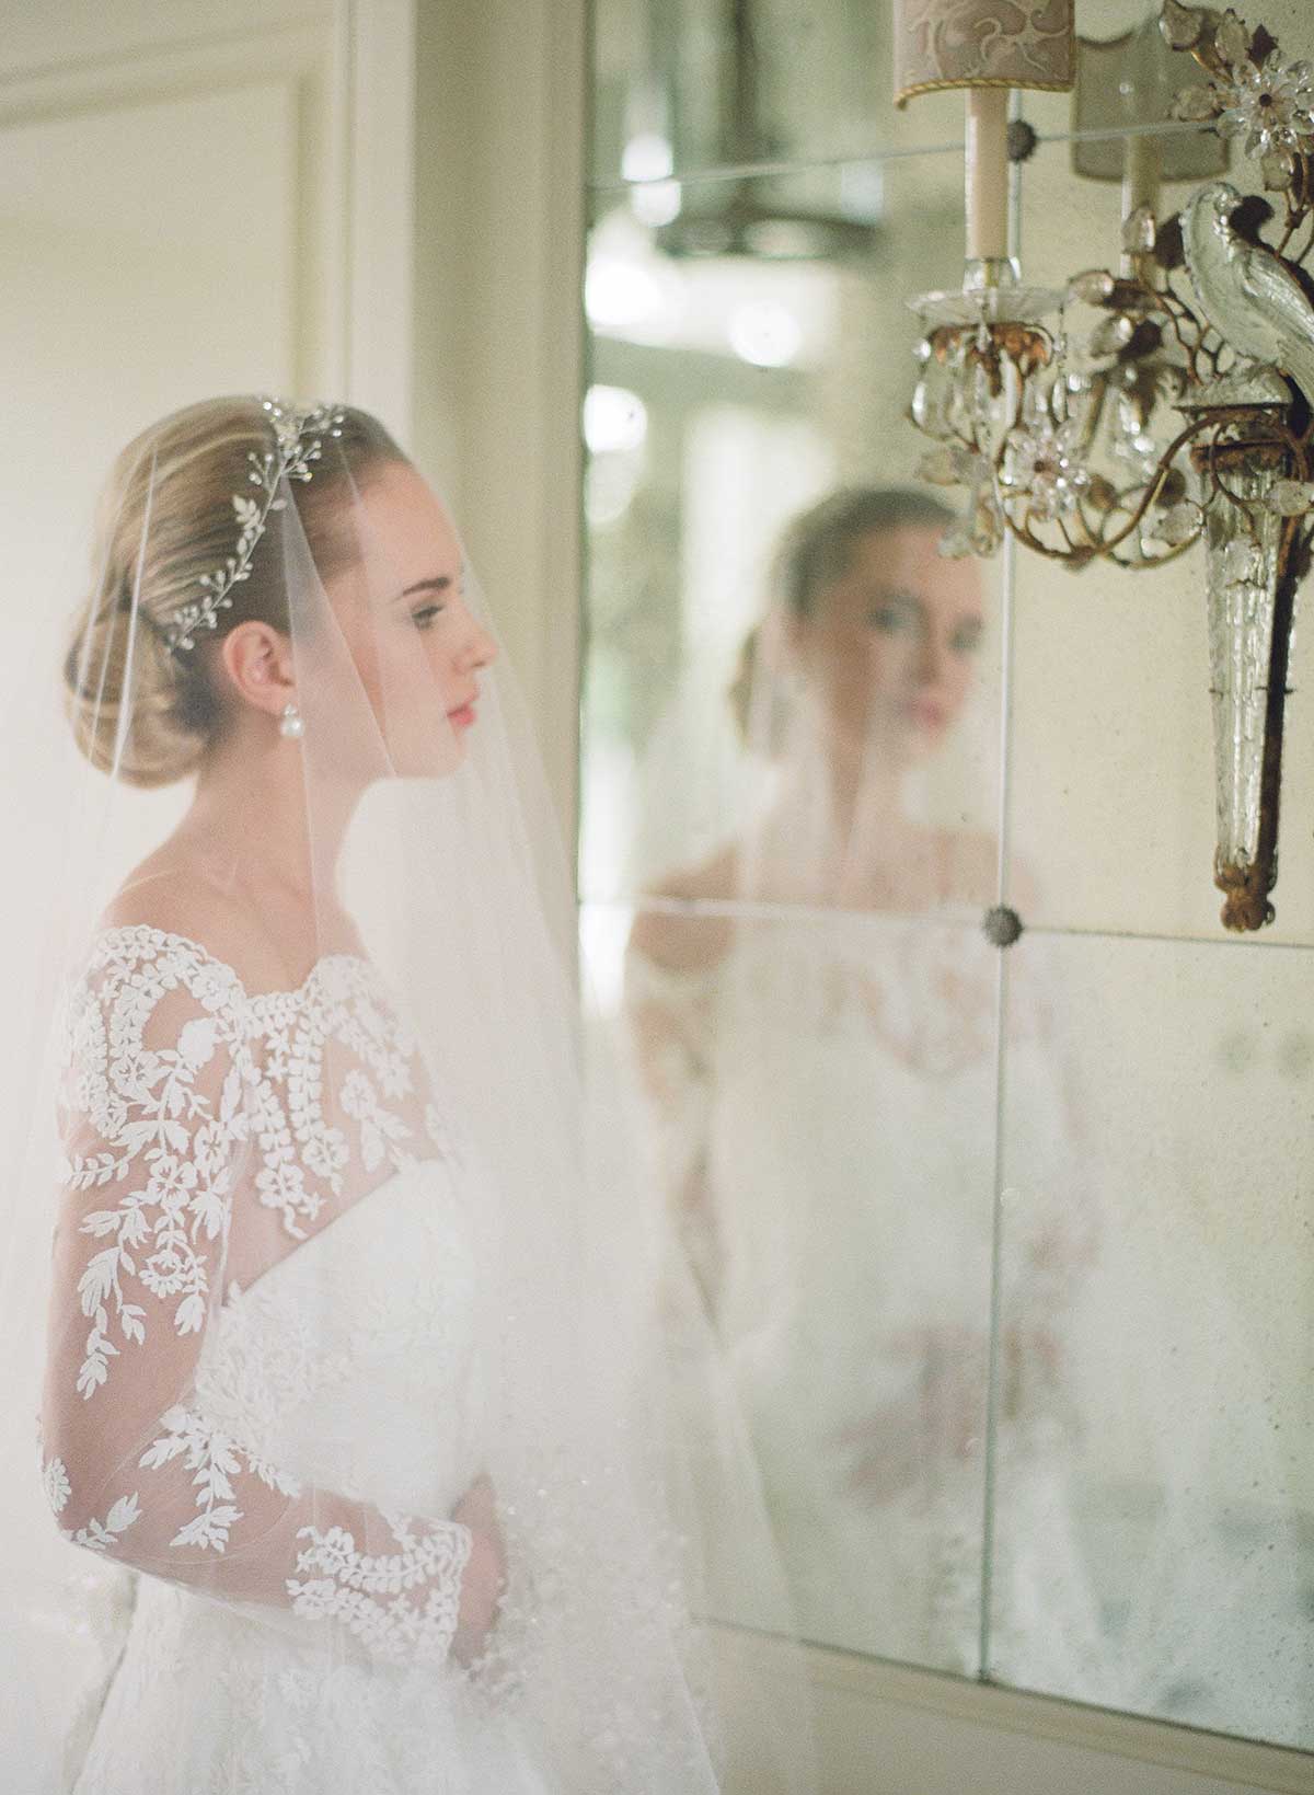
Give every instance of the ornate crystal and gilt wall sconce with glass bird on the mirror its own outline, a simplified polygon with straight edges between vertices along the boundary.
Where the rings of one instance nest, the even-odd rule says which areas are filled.
[[[1120,264],[1034,289],[1007,257],[1005,88],[1072,86],[1072,5],[1018,18],[1002,0],[898,9],[899,104],[964,86],[969,108],[962,291],[910,302],[926,327],[910,416],[935,445],[921,474],[966,490],[950,555],[1011,535],[1073,569],[1136,571],[1203,542],[1213,876],[1224,926],[1257,930],[1273,921],[1291,625],[1314,533],[1314,68],[1235,11],[1178,0],[1118,45],[1082,45],[1082,63],[1120,68],[1079,79],[1079,118],[1082,90],[1142,120],[1176,92],[1172,115],[1212,131],[1106,140],[1124,158]],[[1264,194],[1208,180],[1156,219],[1160,181],[1217,176],[1226,140],[1258,160]],[[1111,172],[1081,154],[1077,169]]]

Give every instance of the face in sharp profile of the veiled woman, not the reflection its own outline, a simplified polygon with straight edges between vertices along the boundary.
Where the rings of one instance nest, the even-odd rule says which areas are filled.
[[[497,644],[467,607],[461,546],[427,481],[388,465],[361,508],[363,564],[334,609],[393,770],[445,774],[479,727],[479,671]]]

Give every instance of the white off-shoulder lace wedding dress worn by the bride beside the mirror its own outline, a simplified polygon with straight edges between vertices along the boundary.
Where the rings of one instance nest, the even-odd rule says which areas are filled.
[[[485,1192],[373,968],[113,928],[65,1046],[45,1483],[147,1572],[75,1795],[546,1795],[451,1655]]]

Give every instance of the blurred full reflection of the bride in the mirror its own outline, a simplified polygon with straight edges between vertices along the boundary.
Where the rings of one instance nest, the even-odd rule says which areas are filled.
[[[928,494],[845,488],[790,524],[731,691],[766,797],[648,887],[625,989],[802,1630],[977,1673],[998,1077],[980,921],[998,844],[908,801],[986,632],[977,564],[939,555],[948,521]],[[1025,914],[1025,869],[1011,894]],[[1045,1066],[1036,959],[1011,964],[1005,1041]],[[1100,1698],[1063,1486],[1063,1316],[1095,1228],[1057,1066],[1039,1090],[1043,1154],[1003,1235],[994,1488],[1012,1524],[993,1641],[1014,1675],[1043,1660],[1047,1686]]]

